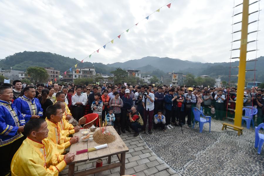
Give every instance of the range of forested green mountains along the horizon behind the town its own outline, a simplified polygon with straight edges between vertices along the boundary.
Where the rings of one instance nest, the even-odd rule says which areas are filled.
[[[256,69],[256,79],[259,82],[264,82],[264,57],[261,56],[257,58],[257,63],[247,62],[247,69]],[[64,72],[70,67],[74,66],[79,62],[75,58],[69,58],[61,56],[55,53],[49,52],[31,52],[24,51],[21,53],[15,53],[11,56],[7,56],[4,59],[0,60],[0,67],[5,69],[26,71],[26,68],[29,66],[41,66],[41,67],[54,67],[55,69]],[[200,63],[200,62],[191,62],[191,61],[182,61],[180,59],[173,58],[159,58],[147,56],[141,59],[130,60],[124,63],[116,62],[112,64],[102,64],[102,63],[91,63],[84,62],[79,63],[77,68],[83,67],[92,67],[94,65],[96,73],[110,74],[111,71],[120,67],[123,69],[134,69],[141,70],[143,74],[153,74],[158,77],[164,75],[168,72],[178,72],[178,73],[192,73],[195,76],[200,75],[209,75],[211,77],[218,77],[219,75],[223,76],[222,79],[229,80],[229,67],[230,63]],[[231,66],[238,66],[239,62],[231,62]],[[238,68],[231,68],[231,75],[237,75]],[[247,71],[246,78],[254,78],[254,71]],[[231,77],[231,80],[236,80],[236,77]]]

